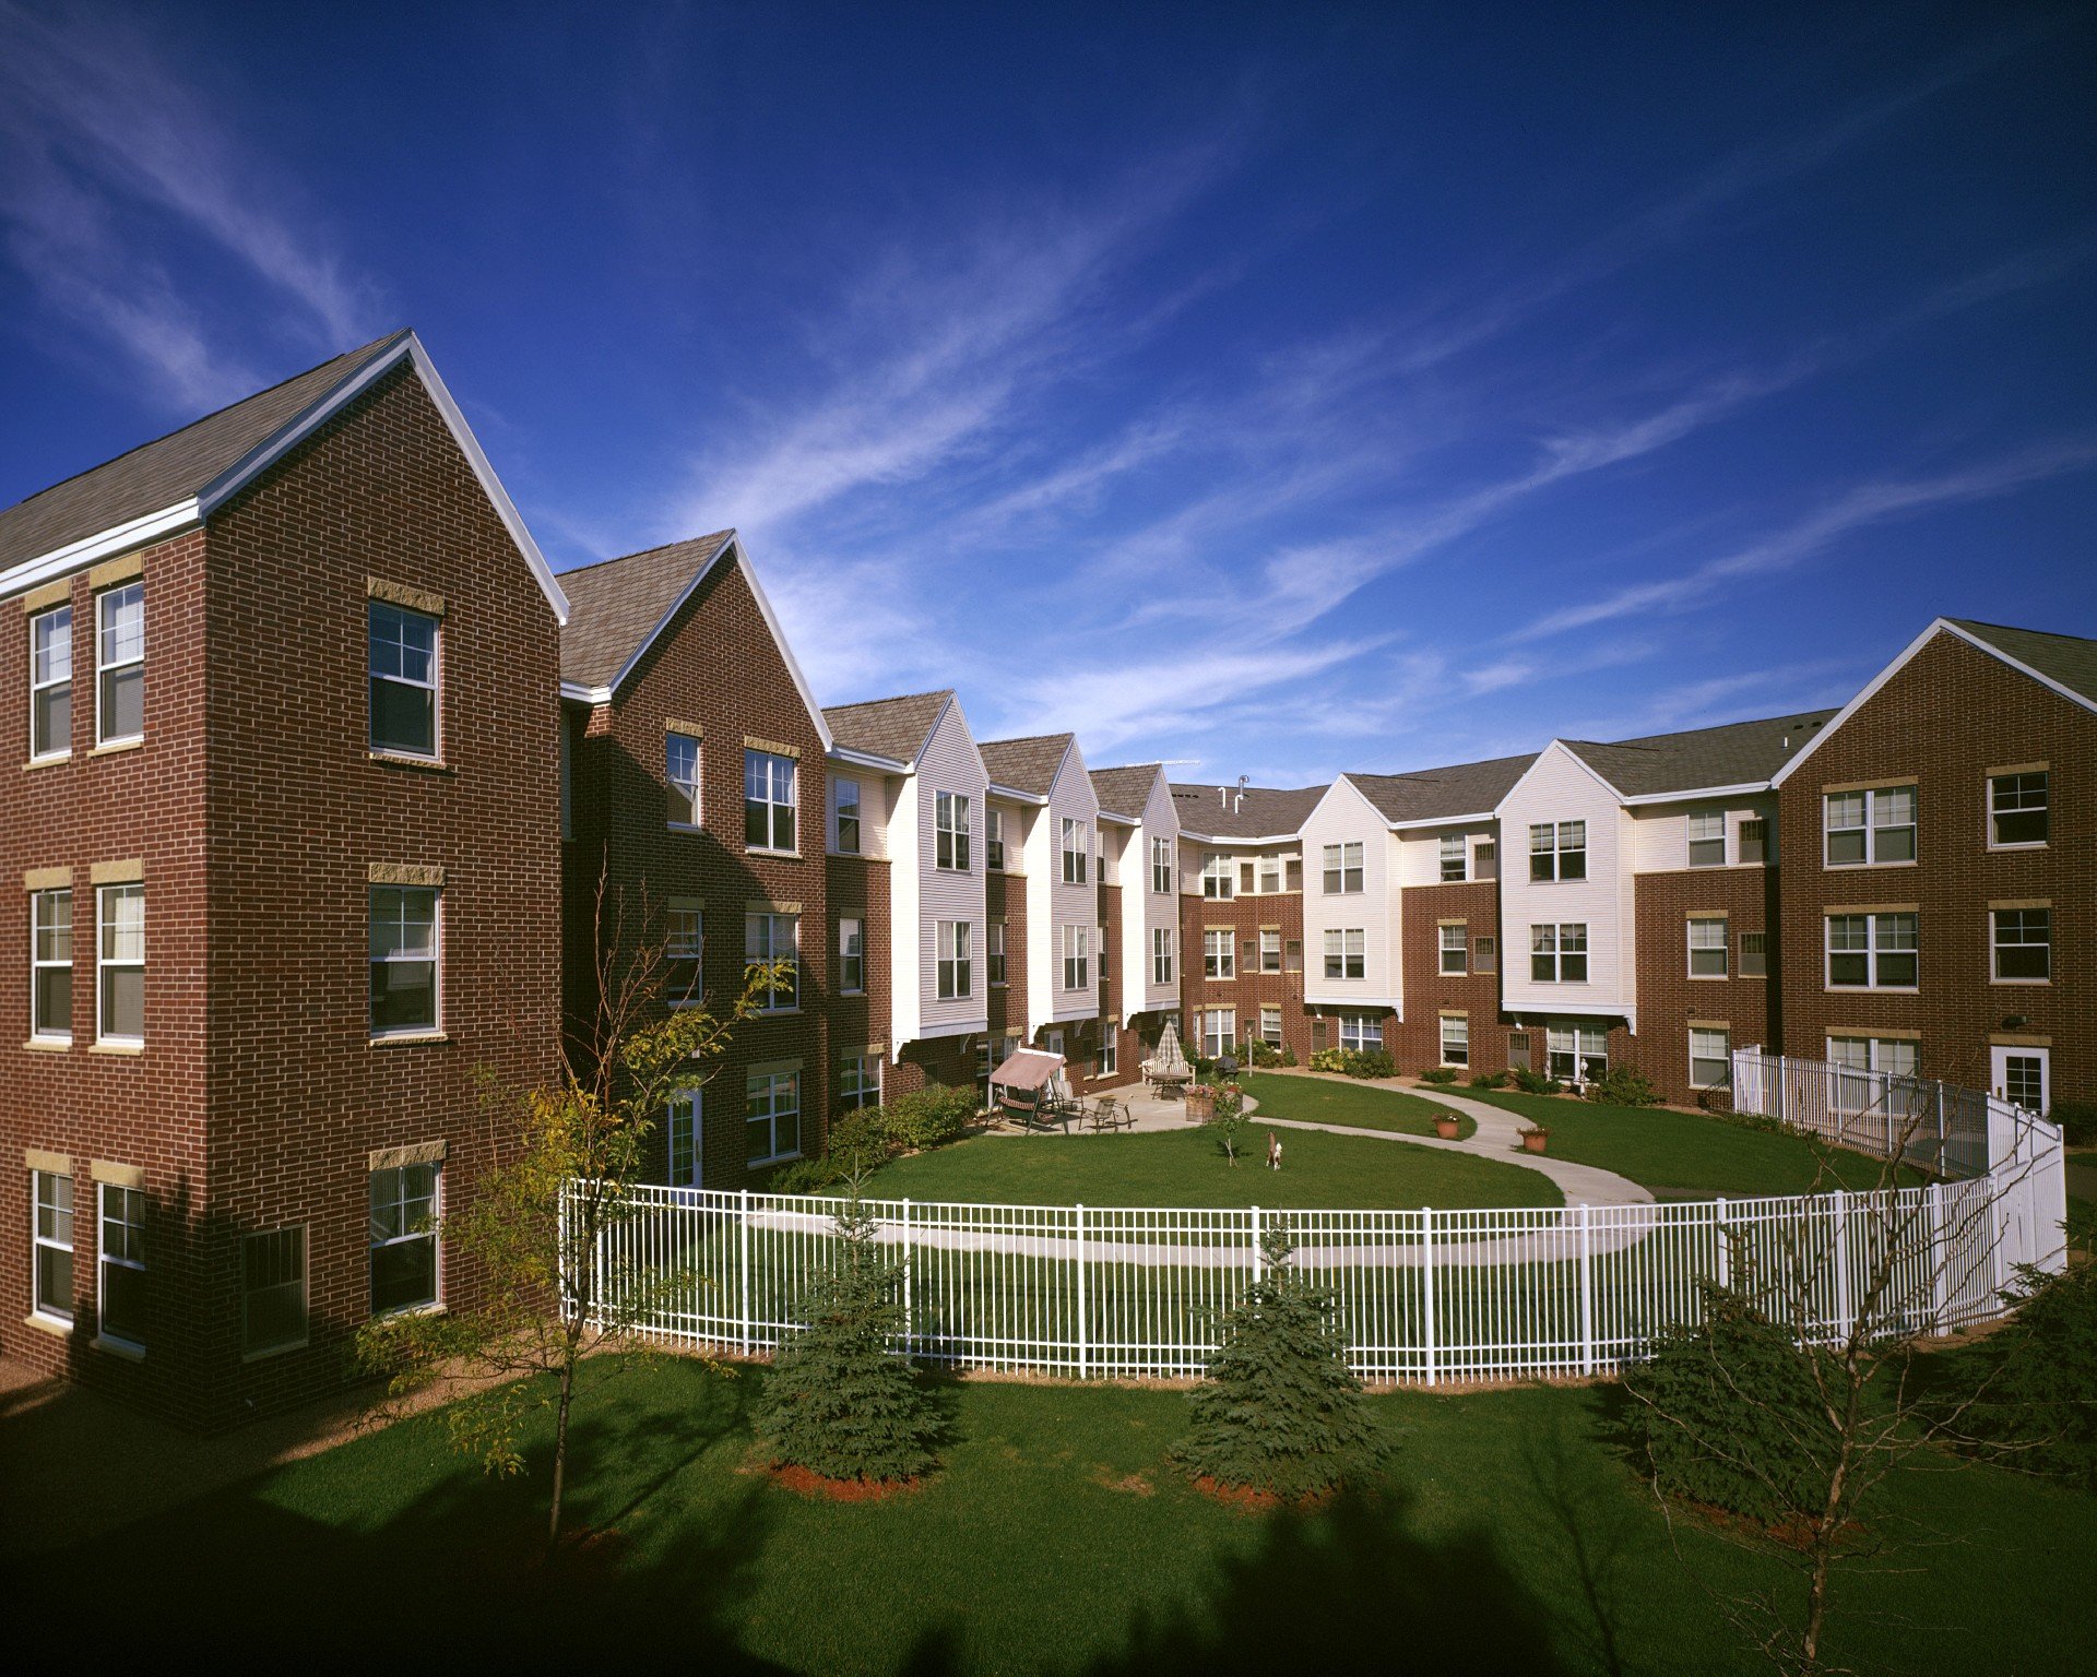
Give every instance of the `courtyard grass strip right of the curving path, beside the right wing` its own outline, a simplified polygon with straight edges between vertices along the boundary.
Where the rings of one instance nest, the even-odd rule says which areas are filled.
[[[1558,1094],[1464,1092],[1545,1126],[1556,1157],[1615,1170],[1659,1199],[1824,1193],[1879,1182],[1877,1159],[1862,1153],[1703,1113],[1598,1107]]]

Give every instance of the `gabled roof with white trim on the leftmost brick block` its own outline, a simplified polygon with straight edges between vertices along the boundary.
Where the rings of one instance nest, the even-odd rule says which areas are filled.
[[[552,566],[430,365],[421,340],[407,329],[323,361],[0,511],[0,593],[65,576],[105,553],[138,547],[210,518],[403,361],[415,367],[482,493],[539,579],[554,616],[566,623],[568,597],[554,581]]]

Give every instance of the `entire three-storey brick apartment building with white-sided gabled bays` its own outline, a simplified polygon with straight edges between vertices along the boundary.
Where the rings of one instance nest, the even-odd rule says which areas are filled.
[[[2089,639],[1938,620],[1835,713],[1170,784],[950,690],[820,709],[732,530],[556,581],[409,333],[0,511],[0,1348],[193,1425],[470,1298],[426,1218],[495,1157],[476,1077],[556,1077],[644,941],[690,996],[795,973],[665,1113],[679,1184],[1019,1044],[1130,1084],[1166,1019],[2097,1098]]]

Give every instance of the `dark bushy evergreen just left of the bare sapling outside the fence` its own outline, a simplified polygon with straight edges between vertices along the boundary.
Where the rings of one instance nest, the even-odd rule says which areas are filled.
[[[1745,1293],[1696,1285],[1703,1323],[1669,1327],[1623,1386],[1634,1451],[1659,1493],[1780,1524],[1814,1511],[1839,1440],[1791,1331]]]

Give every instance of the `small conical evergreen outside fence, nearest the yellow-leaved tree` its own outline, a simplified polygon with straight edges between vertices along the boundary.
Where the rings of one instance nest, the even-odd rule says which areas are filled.
[[[833,1480],[908,1480],[937,1465],[939,1411],[887,1342],[904,1325],[900,1268],[881,1256],[858,1191],[835,1218],[830,1272],[801,1306],[759,1404],[757,1442],[776,1467]]]

